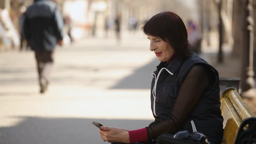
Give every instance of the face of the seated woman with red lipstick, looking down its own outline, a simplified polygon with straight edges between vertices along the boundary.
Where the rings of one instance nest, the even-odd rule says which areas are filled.
[[[150,40],[150,50],[154,51],[158,60],[161,62],[166,62],[171,59],[174,54],[174,49],[171,47],[170,43],[165,42],[163,39],[155,36],[148,36]]]

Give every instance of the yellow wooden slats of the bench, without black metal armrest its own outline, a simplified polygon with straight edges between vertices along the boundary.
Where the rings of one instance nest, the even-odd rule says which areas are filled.
[[[220,109],[224,118],[224,138],[227,144],[234,144],[242,121],[255,115],[245,104],[236,88],[226,88],[221,94],[220,102]]]

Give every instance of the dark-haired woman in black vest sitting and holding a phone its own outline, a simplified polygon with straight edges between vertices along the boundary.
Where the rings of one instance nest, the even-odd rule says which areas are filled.
[[[223,138],[220,111],[219,74],[202,58],[191,52],[187,29],[177,14],[164,11],[154,15],[141,28],[150,40],[150,50],[161,61],[152,73],[152,125],[128,131],[102,126],[103,141],[151,143],[163,133],[193,132],[191,121],[211,144]]]

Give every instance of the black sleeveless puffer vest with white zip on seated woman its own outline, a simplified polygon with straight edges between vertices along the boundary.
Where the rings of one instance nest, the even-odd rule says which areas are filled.
[[[155,104],[152,91],[154,90],[156,78],[152,80],[151,109],[153,114],[155,113],[155,118],[162,120],[168,119],[187,73],[192,66],[196,64],[203,65],[203,67],[209,69],[214,75],[215,82],[209,90],[203,93],[196,107],[191,111],[190,115],[188,115],[179,130],[188,130],[192,133],[191,120],[193,120],[197,131],[206,134],[210,142],[220,144],[223,137],[223,117],[220,110],[219,74],[216,69],[194,52],[191,53],[191,57],[185,60],[175,58],[167,63],[166,69],[163,69],[161,72],[159,72],[161,69],[159,69],[159,66],[158,69],[154,71],[154,75],[159,75],[159,78],[156,87]],[[167,70],[169,72],[167,72]]]

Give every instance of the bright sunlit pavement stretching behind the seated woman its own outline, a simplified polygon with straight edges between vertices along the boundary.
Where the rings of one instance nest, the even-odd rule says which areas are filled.
[[[113,36],[88,37],[58,47],[52,80],[43,95],[33,52],[0,53],[0,127],[19,124],[23,118],[18,117],[27,116],[153,119],[150,82],[156,65],[142,73],[138,69],[156,58],[141,33],[123,37],[119,44]],[[129,76],[135,82],[125,80]],[[142,87],[135,86],[141,81]]]

